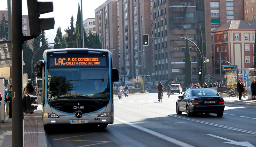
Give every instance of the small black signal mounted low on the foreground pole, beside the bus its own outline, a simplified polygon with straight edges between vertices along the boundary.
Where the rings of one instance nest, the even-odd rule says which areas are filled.
[[[29,94],[25,94],[23,96],[23,112],[29,113],[33,112],[37,109],[37,104],[33,104],[37,99],[37,96],[31,96]]]

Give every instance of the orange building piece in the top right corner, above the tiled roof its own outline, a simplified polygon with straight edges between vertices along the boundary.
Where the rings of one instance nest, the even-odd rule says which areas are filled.
[[[244,20],[255,21],[256,16],[256,3],[255,0],[244,0]]]

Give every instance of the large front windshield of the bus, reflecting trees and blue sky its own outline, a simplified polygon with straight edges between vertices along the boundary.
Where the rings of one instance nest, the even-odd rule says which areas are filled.
[[[97,99],[109,101],[108,68],[50,68],[48,103]]]

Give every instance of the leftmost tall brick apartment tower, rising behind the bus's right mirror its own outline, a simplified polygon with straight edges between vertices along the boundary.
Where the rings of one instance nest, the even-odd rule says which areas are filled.
[[[95,12],[95,31],[100,37],[102,49],[111,51],[113,68],[119,69],[121,75],[122,50],[119,45],[119,6],[118,0],[107,0]],[[121,61],[121,62],[120,62]],[[121,78],[121,77],[120,77]]]

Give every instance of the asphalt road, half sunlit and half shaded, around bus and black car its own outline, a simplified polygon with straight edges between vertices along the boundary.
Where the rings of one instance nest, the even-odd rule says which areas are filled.
[[[225,105],[223,117],[176,114],[178,94],[163,102],[157,93],[114,98],[114,124],[60,126],[47,132],[52,147],[234,147],[256,146],[256,107]]]

